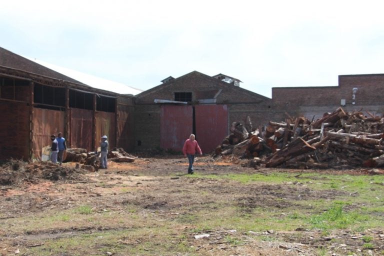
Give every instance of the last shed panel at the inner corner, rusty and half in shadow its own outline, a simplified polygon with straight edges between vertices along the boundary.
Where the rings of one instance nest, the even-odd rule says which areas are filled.
[[[134,148],[134,107],[117,104],[117,147],[131,151]]]

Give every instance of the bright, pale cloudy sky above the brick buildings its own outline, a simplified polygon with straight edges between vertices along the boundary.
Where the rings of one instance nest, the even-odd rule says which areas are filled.
[[[140,90],[196,70],[271,97],[272,87],[384,73],[383,7],[380,0],[3,0],[0,47]]]

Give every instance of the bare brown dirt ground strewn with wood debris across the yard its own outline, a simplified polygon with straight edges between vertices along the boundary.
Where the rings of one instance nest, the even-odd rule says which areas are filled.
[[[103,209],[122,210],[123,203],[129,201],[137,205],[142,212],[157,214],[158,218],[173,219],[180,214],[181,205],[204,207],[209,201],[228,197],[228,201],[244,212],[254,207],[265,209],[281,208],[289,204],[290,197],[300,194],[306,199],[332,199],[341,195],[336,190],[316,193],[306,186],[289,184],[238,185],[230,180],[214,180],[203,177],[190,178],[186,174],[187,160],[179,156],[161,158],[136,158],[130,163],[109,162],[108,169],[88,172],[75,167],[76,163],[22,163],[11,161],[0,166],[0,223],[21,216],[34,216],[37,212],[55,209],[70,209],[80,204],[97,205],[95,211]],[[241,162],[229,159],[214,160],[210,156],[197,157],[195,172],[199,174],[225,173],[269,173],[273,171],[303,172],[307,170],[242,167]],[[343,170],[349,174],[384,174],[381,169]],[[328,173],[340,173],[340,170],[322,170]],[[16,174],[15,174],[16,173]],[[176,174],[176,175],[175,175]],[[103,185],[99,185],[102,183]],[[79,186],[80,184],[80,186]],[[120,193],[121,189],[130,189],[129,193]],[[209,190],[210,197],[195,196],[192,191]],[[182,193],[181,193],[182,191]],[[185,196],[190,191],[190,196]],[[212,196],[213,195],[213,196]],[[230,197],[230,198],[229,198]],[[281,201],[276,198],[286,198]],[[104,227],[117,228],[117,227]],[[181,227],[180,227],[181,228]],[[182,228],[186,228],[183,226]],[[181,228],[181,229],[182,229]],[[70,232],[65,232],[70,231]],[[60,238],[84,232],[96,232],[89,227],[72,230],[37,230],[19,233],[10,228],[0,229],[0,255],[22,254],[22,248],[38,246],[43,239]],[[196,248],[199,255],[316,255],[318,248],[326,248],[326,255],[381,255],[384,250],[384,228],[367,230],[365,235],[373,237],[373,249],[361,250],[361,235],[342,230],[328,236],[317,230],[296,229],[293,231],[264,230],[262,232],[237,233],[244,244],[232,246],[223,242],[223,237],[236,230],[204,230],[209,237],[188,239],[189,246]],[[297,235],[299,233],[299,235]],[[201,233],[196,233],[196,235]],[[251,239],[249,236],[271,236],[273,239]],[[334,242],[337,238],[338,242]],[[339,242],[339,241],[342,242]],[[125,241],[137,243],[137,241]],[[17,252],[17,251],[20,252]],[[64,254],[62,254],[64,255]],[[69,254],[65,254],[69,255]],[[116,254],[117,255],[117,254]],[[118,254],[122,255],[122,254]],[[178,255],[176,253],[170,255]]]

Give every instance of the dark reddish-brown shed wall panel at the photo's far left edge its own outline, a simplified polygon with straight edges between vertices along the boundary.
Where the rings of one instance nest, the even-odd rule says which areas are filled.
[[[29,158],[29,106],[0,100],[0,159]]]

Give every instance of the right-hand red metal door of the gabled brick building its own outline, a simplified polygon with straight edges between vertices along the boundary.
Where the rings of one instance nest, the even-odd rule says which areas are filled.
[[[226,105],[196,105],[196,139],[205,153],[213,151],[228,135],[228,107]]]

